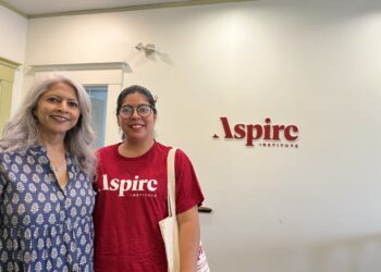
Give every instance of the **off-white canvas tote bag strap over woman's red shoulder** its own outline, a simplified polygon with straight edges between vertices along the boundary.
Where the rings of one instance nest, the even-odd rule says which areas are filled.
[[[175,171],[174,171],[174,156],[176,148],[170,149],[167,157],[167,175],[168,175],[168,217],[176,215],[176,201],[175,201]]]

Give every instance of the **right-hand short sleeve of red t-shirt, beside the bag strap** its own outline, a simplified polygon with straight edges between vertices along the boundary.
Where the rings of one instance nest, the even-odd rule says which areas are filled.
[[[175,154],[176,212],[201,206],[204,195],[189,158],[180,149]]]

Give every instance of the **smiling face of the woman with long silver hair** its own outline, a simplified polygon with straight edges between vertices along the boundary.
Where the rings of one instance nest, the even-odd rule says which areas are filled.
[[[34,115],[42,136],[64,137],[81,115],[76,90],[66,83],[56,83],[39,97]]]

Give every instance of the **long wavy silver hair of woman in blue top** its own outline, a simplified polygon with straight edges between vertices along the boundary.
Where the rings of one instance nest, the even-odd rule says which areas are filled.
[[[82,84],[70,78],[63,73],[52,73],[40,77],[30,88],[21,104],[20,110],[5,124],[0,139],[0,151],[21,151],[37,144],[39,129],[38,120],[34,112],[40,96],[57,83],[65,83],[72,86],[78,96],[79,119],[77,124],[70,129],[64,138],[67,151],[73,156],[75,163],[82,171],[91,177],[95,175],[96,158],[93,153],[95,134],[91,123],[91,102]]]

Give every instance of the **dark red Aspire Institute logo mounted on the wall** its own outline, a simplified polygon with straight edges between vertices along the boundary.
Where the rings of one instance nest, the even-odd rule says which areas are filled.
[[[296,125],[275,124],[270,118],[266,118],[262,124],[232,124],[225,116],[220,121],[225,139],[244,139],[248,147],[298,147],[299,128]],[[220,135],[212,137],[219,139]]]

